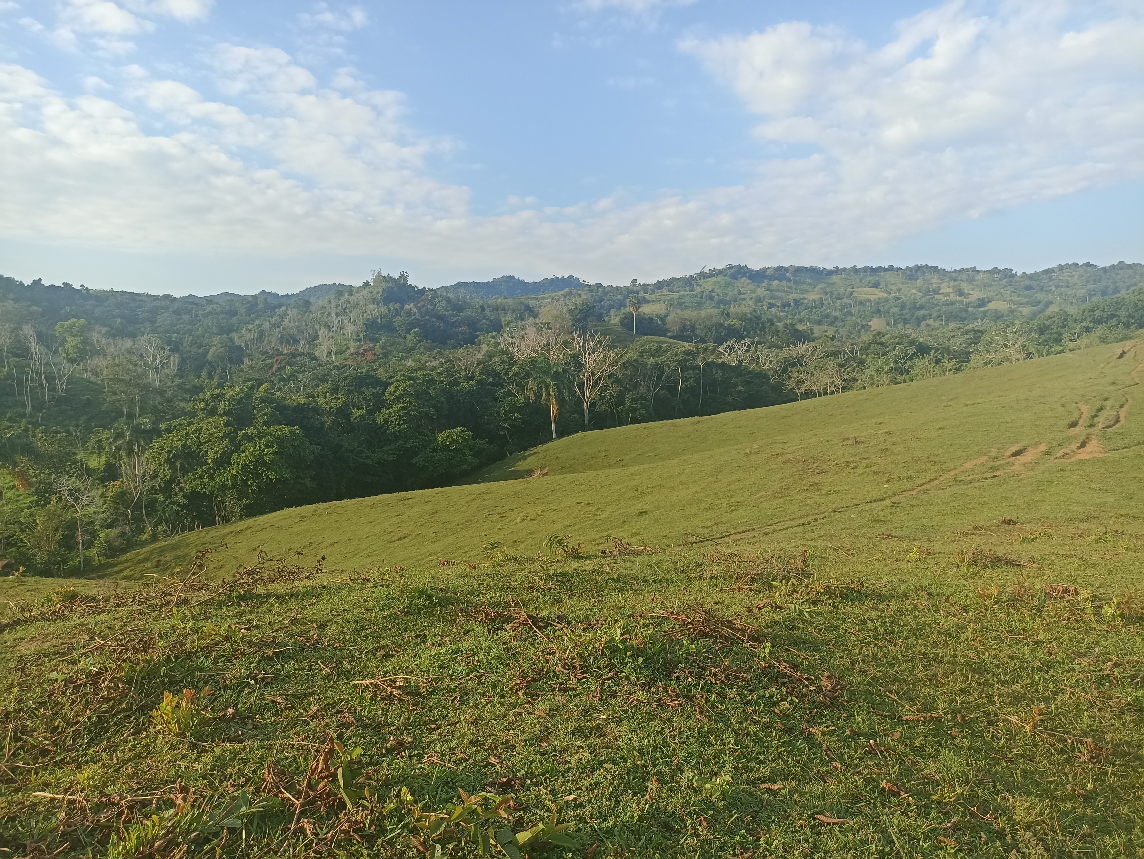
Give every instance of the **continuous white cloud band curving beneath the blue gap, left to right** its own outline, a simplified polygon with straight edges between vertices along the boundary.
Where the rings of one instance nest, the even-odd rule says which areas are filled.
[[[450,143],[416,134],[402,94],[352,69],[326,82],[277,48],[224,43],[208,57],[221,95],[128,67],[112,101],[0,66],[0,237],[602,279],[850,262],[953,220],[1144,176],[1144,9],[1096,8],[951,3],[881,46],[800,23],[685,41],[771,149],[805,153],[761,150],[732,188],[565,208],[522,197],[499,217],[472,215],[467,189],[434,177]]]

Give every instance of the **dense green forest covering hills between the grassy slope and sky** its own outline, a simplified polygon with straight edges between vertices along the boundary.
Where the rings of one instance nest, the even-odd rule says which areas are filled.
[[[1144,265],[726,267],[650,284],[375,273],[172,297],[0,277],[0,572],[439,486],[570,432],[1117,342]]]

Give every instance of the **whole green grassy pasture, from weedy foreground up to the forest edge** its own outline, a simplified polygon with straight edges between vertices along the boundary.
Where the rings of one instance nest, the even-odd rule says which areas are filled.
[[[577,856],[1139,856],[1142,372],[1144,347],[1101,348],[609,430],[136,552],[82,588],[212,544],[216,571],[267,546],[356,572],[84,596],[0,631],[0,846],[177,842],[185,812],[125,797],[297,797],[333,734],[381,797],[509,793]],[[553,533],[585,554],[538,555]],[[189,739],[156,729],[162,692],[206,685]],[[319,788],[221,850],[414,854],[399,810],[341,809]]]

